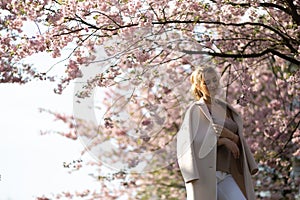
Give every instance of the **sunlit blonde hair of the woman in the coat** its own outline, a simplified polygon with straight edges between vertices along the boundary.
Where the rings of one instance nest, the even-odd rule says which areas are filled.
[[[193,71],[193,73],[190,76],[190,82],[192,84],[191,92],[197,100],[199,100],[203,96],[203,93],[201,92],[201,90],[199,90],[197,88],[196,84],[203,81],[205,73],[214,73],[217,75],[217,72],[214,68],[202,67],[202,68],[198,68],[195,71]]]

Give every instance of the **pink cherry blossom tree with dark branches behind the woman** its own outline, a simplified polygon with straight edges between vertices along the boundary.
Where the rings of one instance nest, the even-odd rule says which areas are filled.
[[[109,191],[109,180],[96,176],[102,192],[84,194],[183,199],[172,147],[192,100],[189,75],[196,67],[213,65],[221,74],[227,101],[243,115],[245,136],[260,165],[257,197],[295,196],[299,182],[292,162],[300,156],[299,0],[4,0],[0,9],[1,83],[58,81],[55,92],[61,93],[70,82],[80,82],[74,95],[78,108],[101,88],[100,123],[80,118],[80,112],[72,117],[52,113],[70,128],[61,134],[93,138],[88,151],[113,139],[115,151],[97,154],[97,159],[109,158],[105,162],[113,165],[121,157],[126,169],[148,162],[146,152],[153,156],[147,173],[115,173],[123,184],[118,191]],[[29,22],[39,30],[35,36],[23,30]],[[69,46],[72,52],[64,55]],[[65,74],[51,74],[59,63],[44,70],[23,62],[38,53],[66,62]],[[263,197],[263,192],[270,195]]]

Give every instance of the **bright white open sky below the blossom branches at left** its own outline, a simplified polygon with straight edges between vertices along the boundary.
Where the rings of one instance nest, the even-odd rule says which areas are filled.
[[[40,135],[40,130],[59,130],[60,124],[38,108],[72,114],[73,88],[63,95],[55,85],[32,82],[0,84],[0,199],[27,200],[38,195],[93,190],[99,185],[83,168],[73,174],[63,162],[80,158],[83,145],[57,134]],[[92,160],[86,155],[84,162]],[[99,188],[98,188],[99,189]]]

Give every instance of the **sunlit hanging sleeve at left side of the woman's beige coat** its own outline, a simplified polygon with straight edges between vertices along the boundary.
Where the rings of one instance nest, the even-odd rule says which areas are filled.
[[[193,148],[193,133],[191,132],[192,106],[187,110],[180,130],[177,133],[177,159],[181,174],[186,183],[199,179],[199,172]]]

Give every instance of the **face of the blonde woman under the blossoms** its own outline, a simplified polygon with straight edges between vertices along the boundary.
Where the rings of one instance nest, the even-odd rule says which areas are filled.
[[[204,77],[198,83],[198,89],[203,93],[206,97],[214,97],[219,88],[219,79],[215,73],[204,73]]]

